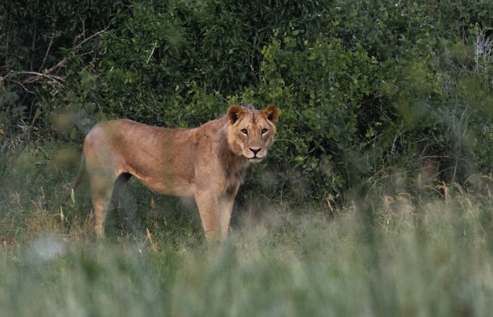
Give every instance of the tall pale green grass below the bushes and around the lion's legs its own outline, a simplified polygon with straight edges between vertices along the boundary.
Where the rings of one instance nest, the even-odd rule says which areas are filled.
[[[53,210],[78,161],[77,151],[56,148],[0,156],[2,316],[493,311],[489,178],[468,191],[375,192],[333,211],[246,201],[219,245],[204,242],[193,206],[134,183],[135,199],[110,221],[110,237],[95,240],[87,189],[77,191],[75,206]]]

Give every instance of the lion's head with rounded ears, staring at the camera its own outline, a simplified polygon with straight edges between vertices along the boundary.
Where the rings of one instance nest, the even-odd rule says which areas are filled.
[[[227,142],[231,151],[251,163],[262,161],[274,140],[278,116],[279,109],[274,105],[267,106],[263,111],[258,111],[253,106],[230,106],[227,110],[227,118],[230,120]]]

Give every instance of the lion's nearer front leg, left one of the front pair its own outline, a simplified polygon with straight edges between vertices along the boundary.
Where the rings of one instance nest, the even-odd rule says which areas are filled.
[[[199,207],[200,218],[206,233],[206,239],[220,239],[218,197],[208,192],[196,192],[195,201]]]

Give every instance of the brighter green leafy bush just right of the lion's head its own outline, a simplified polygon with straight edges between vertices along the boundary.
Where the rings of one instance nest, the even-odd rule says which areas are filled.
[[[295,162],[321,187],[342,187],[341,174],[356,172],[344,161],[360,145],[358,113],[380,89],[370,84],[382,80],[379,64],[361,46],[344,49],[337,39],[306,40],[300,49],[285,37],[263,55],[258,94],[282,106],[279,138],[292,141],[287,151],[275,148],[274,158]]]

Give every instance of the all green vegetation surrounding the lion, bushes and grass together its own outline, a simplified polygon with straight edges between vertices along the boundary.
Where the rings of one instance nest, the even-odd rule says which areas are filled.
[[[0,311],[487,316],[492,21],[490,0],[0,1]],[[138,182],[106,241],[87,184],[58,206],[97,121],[232,103],[282,113],[224,244]]]

